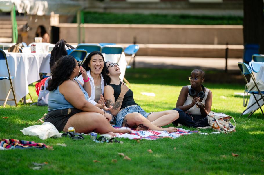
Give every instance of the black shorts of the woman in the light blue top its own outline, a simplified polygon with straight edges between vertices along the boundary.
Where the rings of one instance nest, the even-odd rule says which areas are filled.
[[[68,119],[74,114],[83,112],[76,108],[67,108],[59,110],[51,110],[45,117],[45,122],[52,123],[58,131],[62,131]]]

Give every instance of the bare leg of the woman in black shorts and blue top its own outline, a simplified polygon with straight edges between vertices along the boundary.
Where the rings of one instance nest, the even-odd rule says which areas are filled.
[[[129,129],[115,129],[113,128],[107,119],[99,113],[81,112],[77,113],[69,118],[63,131],[67,132],[68,128],[73,126],[75,132],[89,133],[93,130],[99,133],[130,133]]]

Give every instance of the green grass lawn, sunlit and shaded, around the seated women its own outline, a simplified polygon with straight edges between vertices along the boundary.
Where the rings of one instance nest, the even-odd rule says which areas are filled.
[[[126,79],[131,83],[135,101],[143,109],[147,112],[160,111],[175,107],[181,87],[189,84],[187,77],[190,72],[127,69]],[[124,142],[122,145],[95,143],[88,136],[82,141],[69,138],[41,140],[38,137],[24,136],[19,130],[39,124],[36,121],[47,113],[47,107],[29,104],[6,108],[1,106],[1,139],[41,142],[52,145],[54,150],[0,151],[0,174],[264,174],[264,117],[260,110],[249,119],[246,115],[240,117],[245,109],[243,97],[234,95],[234,92],[243,92],[244,84],[216,84],[205,80],[204,85],[213,92],[212,110],[234,117],[237,123],[235,133],[191,134],[177,139],[141,140],[140,143],[136,140],[119,139]],[[35,87],[29,88],[36,101]],[[153,92],[156,96],[149,97],[140,92]],[[201,130],[207,133],[212,131]],[[57,143],[65,143],[67,147],[58,146]],[[148,149],[153,153],[149,153]],[[123,160],[118,153],[124,153],[131,161]],[[232,153],[239,156],[233,157]],[[117,162],[112,162],[112,159]],[[32,170],[32,162],[48,162],[48,165],[40,170]]]

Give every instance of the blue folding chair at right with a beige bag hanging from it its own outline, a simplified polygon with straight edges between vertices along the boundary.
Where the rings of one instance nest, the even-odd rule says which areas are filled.
[[[259,90],[259,88],[258,88],[258,86],[257,86],[257,84],[256,84],[255,77],[253,76],[253,73],[252,73],[252,71],[251,71],[249,65],[247,65],[247,64],[245,64],[245,63],[242,63],[242,62],[238,62],[238,67],[239,67],[239,69],[240,69],[240,71],[241,71],[241,73],[242,73],[242,76],[243,76],[243,78],[245,79],[246,83],[248,83],[248,81],[247,81],[247,78],[245,77],[245,75],[250,75],[250,77],[252,78],[252,80],[253,80],[253,82],[254,82],[254,84],[255,84],[254,87],[256,87],[256,88],[258,89],[258,91],[251,91],[251,90],[254,88],[254,87],[252,87],[251,89],[246,90],[247,93],[250,93],[250,94],[253,95],[253,97],[254,97],[254,99],[256,100],[256,102],[254,102],[252,105],[250,105],[249,107],[247,107],[247,109],[245,109],[245,110],[241,113],[240,116],[242,116],[242,114],[243,114],[246,110],[248,110],[249,108],[251,108],[254,104],[258,104],[258,108],[255,109],[255,110],[253,110],[253,111],[249,114],[248,118],[249,118],[254,112],[256,112],[256,110],[258,110],[258,109],[261,110],[261,112],[262,112],[262,114],[263,114],[263,116],[264,116],[263,110],[261,109],[261,106],[263,106],[263,104],[260,105],[260,104],[258,103],[260,100],[263,100],[263,101],[264,101],[264,97],[263,97],[263,95],[264,95],[264,91],[260,91],[260,90]],[[255,95],[260,95],[261,98],[257,100],[257,98],[256,98]]]

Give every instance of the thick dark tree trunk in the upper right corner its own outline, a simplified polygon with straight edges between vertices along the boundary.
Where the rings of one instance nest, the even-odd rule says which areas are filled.
[[[259,44],[259,54],[264,54],[263,0],[243,0],[243,36],[245,44]]]

